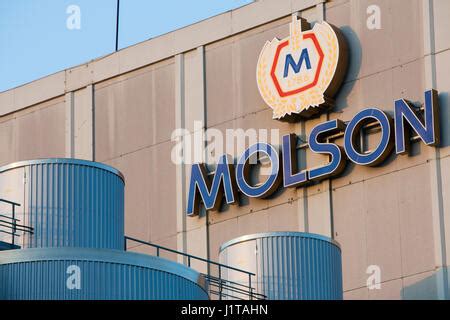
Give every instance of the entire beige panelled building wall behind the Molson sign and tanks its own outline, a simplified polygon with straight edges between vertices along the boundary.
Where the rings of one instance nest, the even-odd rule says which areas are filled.
[[[237,236],[315,232],[341,244],[346,298],[444,297],[439,272],[450,255],[450,3],[332,0],[325,10],[321,3],[261,0],[0,93],[0,164],[68,154],[92,158],[126,177],[129,236],[218,260],[220,245]],[[380,30],[366,27],[369,5],[381,8]],[[332,112],[289,124],[272,120],[255,70],[264,43],[286,37],[298,10],[311,22],[325,18],[338,26],[351,56]],[[437,151],[415,143],[411,155],[392,155],[377,168],[348,164],[333,180],[279,190],[265,200],[241,195],[239,205],[184,216],[190,166],[171,162],[175,128],[192,131],[198,120],[202,131],[308,134],[327,117],[350,120],[373,106],[392,112],[397,98],[423,102],[431,87],[440,92],[443,142]],[[324,161],[306,152],[308,167]],[[380,290],[366,287],[370,265],[381,268]],[[203,264],[194,267],[206,271]]]

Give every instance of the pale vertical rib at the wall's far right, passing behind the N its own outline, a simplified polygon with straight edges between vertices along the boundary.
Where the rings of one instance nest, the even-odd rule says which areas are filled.
[[[424,37],[424,68],[425,85],[427,89],[436,88],[436,59],[435,59],[435,33],[434,33],[434,6],[433,0],[423,1],[423,37]],[[439,299],[448,298],[447,275],[447,246],[444,221],[444,205],[442,193],[442,170],[440,150],[435,148],[434,159],[431,160],[431,184],[433,233],[435,245],[435,258],[438,267],[442,267],[442,278],[436,277]],[[436,207],[437,205],[437,207]]]

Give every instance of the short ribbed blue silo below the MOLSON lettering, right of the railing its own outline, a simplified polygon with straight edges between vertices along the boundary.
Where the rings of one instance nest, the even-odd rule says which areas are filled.
[[[272,232],[242,236],[220,248],[222,263],[256,274],[258,293],[270,300],[341,300],[339,245],[324,236]],[[228,280],[245,283],[229,272]]]

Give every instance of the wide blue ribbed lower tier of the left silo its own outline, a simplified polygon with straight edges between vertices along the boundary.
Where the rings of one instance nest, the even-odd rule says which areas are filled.
[[[17,251],[0,254],[0,299],[208,299],[197,272],[161,258],[115,250]],[[80,268],[80,289],[67,287],[73,265]]]

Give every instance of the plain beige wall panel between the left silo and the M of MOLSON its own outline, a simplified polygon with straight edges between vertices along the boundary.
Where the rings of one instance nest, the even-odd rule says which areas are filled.
[[[168,59],[99,83],[95,90],[96,160],[126,177],[125,233],[172,248],[177,245],[170,161],[174,77],[174,60]]]

